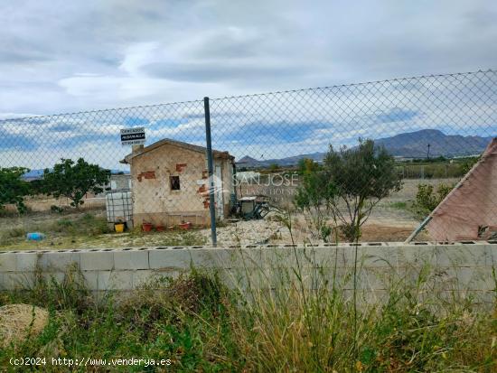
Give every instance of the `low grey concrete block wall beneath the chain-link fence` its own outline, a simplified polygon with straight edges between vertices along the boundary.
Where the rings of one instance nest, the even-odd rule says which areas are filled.
[[[355,250],[352,244],[248,245],[245,247],[139,247],[58,251],[0,251],[0,290],[25,288],[36,273],[58,281],[70,266],[80,269],[89,290],[133,290],[156,277],[176,276],[191,266],[212,268],[233,286],[274,288],[289,284],[300,268],[307,286],[333,277],[352,289]],[[412,277],[422,268],[435,274],[437,287],[446,292],[492,295],[497,242],[361,243],[357,247],[357,286],[383,291],[392,278]]]

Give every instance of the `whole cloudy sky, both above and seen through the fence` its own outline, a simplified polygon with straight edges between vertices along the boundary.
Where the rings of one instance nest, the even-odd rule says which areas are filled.
[[[495,1],[3,0],[0,10],[0,118],[497,68]],[[392,135],[399,123],[494,135],[494,97],[476,99],[480,123],[468,126],[467,111],[447,120],[461,108],[450,92],[439,92],[454,104],[445,116],[429,105],[433,81],[409,88],[405,80],[395,99],[371,85],[372,107],[357,88],[214,101],[213,141],[267,158],[324,150],[331,135]],[[340,110],[330,112],[326,93],[337,94]],[[0,165],[45,167],[83,154],[116,166],[128,150],[115,145],[118,129],[140,124],[150,140],[202,144],[202,103],[0,122]]]

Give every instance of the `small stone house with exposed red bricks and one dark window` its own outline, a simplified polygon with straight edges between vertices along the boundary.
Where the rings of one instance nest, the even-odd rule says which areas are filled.
[[[235,193],[234,157],[214,150],[214,182],[217,219],[230,213]],[[206,148],[160,140],[152,145],[134,146],[121,163],[130,166],[133,192],[133,223],[175,226],[183,222],[209,225],[209,184]]]

